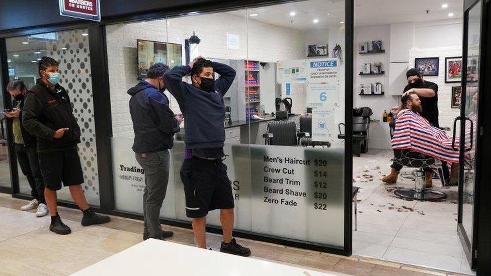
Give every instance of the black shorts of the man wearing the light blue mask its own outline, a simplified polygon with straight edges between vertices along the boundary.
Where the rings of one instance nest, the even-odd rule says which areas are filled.
[[[44,186],[49,190],[60,190],[61,182],[63,186],[84,183],[84,172],[76,147],[60,151],[39,152],[38,156]]]

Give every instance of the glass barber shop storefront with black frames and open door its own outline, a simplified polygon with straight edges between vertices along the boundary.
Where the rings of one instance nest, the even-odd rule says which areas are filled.
[[[0,9],[16,9],[22,2],[0,4]],[[384,11],[384,5],[374,12],[361,0],[139,1],[125,6],[101,1],[100,22],[61,17],[58,3],[25,8],[44,18],[0,22],[0,108],[12,108],[5,89],[9,80],[22,79],[32,87],[39,75],[37,61],[43,56],[58,60],[60,84],[68,91],[81,130],[78,153],[89,204],[101,213],[142,219],[145,182],[131,149],[134,131],[127,91],[154,63],[172,68],[204,56],[236,71],[223,97],[224,163],[235,203],[235,236],[491,273],[491,225],[486,219],[491,211],[491,189],[486,186],[490,175],[483,167],[491,154],[484,143],[491,137],[485,119],[491,98],[479,93],[491,85],[485,66],[491,53],[491,8],[484,0],[451,2],[449,8],[428,8],[431,19],[408,10],[414,14],[411,23]],[[378,179],[390,170],[394,157],[387,118],[395,114],[388,113],[401,100],[406,71],[420,66],[422,78],[438,84],[440,128],[459,151],[456,185],[449,187],[443,179],[440,189],[441,180],[434,177],[434,193],[427,191],[443,194],[435,204],[448,205],[394,194],[401,189],[413,196],[424,193],[415,188],[415,183],[425,181],[418,178],[420,167],[403,164],[393,186]],[[188,76],[183,80],[191,81]],[[182,114],[176,99],[169,91],[165,94],[171,110]],[[1,123],[0,192],[31,199],[31,187],[15,157],[12,125],[4,119]],[[190,228],[180,177],[185,124],[186,118],[170,151],[169,186],[160,218],[162,223]],[[436,176],[439,170],[432,167]],[[76,207],[68,189],[61,190],[59,200]],[[431,217],[432,210],[449,214]],[[218,214],[208,215],[207,231],[221,232]],[[446,233],[440,235],[428,225],[415,229],[414,225],[439,219],[451,223]],[[424,236],[417,232],[423,228],[436,238],[412,242]],[[407,236],[397,236],[399,229]],[[377,239],[383,242],[372,243]],[[456,250],[448,257],[459,262],[458,267],[405,257],[418,250],[404,247],[404,241],[425,247],[435,240],[445,244],[439,248]]]

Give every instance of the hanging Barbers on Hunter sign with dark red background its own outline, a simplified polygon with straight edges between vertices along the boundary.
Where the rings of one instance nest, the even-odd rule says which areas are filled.
[[[59,0],[60,15],[101,21],[99,0]]]

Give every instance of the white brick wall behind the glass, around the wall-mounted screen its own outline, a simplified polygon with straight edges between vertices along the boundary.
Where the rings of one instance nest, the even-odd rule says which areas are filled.
[[[183,44],[193,31],[200,54],[216,59],[275,62],[305,57],[304,33],[228,13],[110,25],[106,28],[113,136],[134,136],[126,91],[137,83],[136,40]],[[239,49],[227,48],[227,33],[239,36]],[[169,38],[169,39],[167,39]],[[184,47],[183,47],[184,55]],[[183,56],[184,62],[184,56]],[[171,108],[179,113],[172,97]]]

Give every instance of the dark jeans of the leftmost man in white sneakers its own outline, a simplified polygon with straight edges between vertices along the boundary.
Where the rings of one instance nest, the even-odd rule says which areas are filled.
[[[39,168],[38,152],[35,146],[25,147],[24,144],[15,144],[17,160],[22,173],[26,176],[31,195],[39,203],[46,204],[44,200],[44,182]]]

